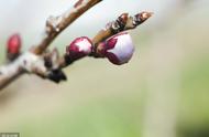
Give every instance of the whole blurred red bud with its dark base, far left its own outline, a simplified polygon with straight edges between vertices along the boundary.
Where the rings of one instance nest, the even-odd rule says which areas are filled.
[[[13,34],[9,38],[7,43],[7,57],[13,61],[21,52],[22,41],[20,34]]]

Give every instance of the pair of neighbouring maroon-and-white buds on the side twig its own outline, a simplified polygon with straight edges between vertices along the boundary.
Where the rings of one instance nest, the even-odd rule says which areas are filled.
[[[99,57],[107,57],[116,65],[128,63],[134,52],[132,39],[129,33],[122,32],[110,39],[92,45],[90,39],[86,36],[77,38],[66,48],[65,60],[67,64],[76,60],[90,55],[95,52]]]

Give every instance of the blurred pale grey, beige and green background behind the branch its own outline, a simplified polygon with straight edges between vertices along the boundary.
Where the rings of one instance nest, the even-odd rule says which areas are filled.
[[[0,0],[0,61],[8,36],[24,50],[38,42],[45,20],[75,0]],[[54,84],[24,75],[0,95],[0,133],[21,137],[209,137],[209,1],[103,0],[51,49],[64,53],[77,36],[92,38],[122,12],[147,10],[152,19],[131,31],[132,61],[114,66],[85,59]]]

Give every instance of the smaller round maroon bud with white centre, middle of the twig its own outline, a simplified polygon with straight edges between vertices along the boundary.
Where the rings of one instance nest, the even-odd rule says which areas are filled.
[[[69,46],[66,48],[66,53],[73,59],[87,56],[92,51],[92,42],[87,36],[77,38]]]

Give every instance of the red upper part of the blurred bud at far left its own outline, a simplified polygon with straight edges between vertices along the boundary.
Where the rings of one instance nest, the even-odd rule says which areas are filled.
[[[22,42],[21,42],[20,35],[19,34],[11,35],[8,40],[8,46],[7,46],[8,53],[19,54],[21,50],[21,45],[22,45]]]

